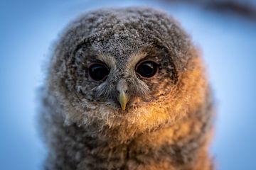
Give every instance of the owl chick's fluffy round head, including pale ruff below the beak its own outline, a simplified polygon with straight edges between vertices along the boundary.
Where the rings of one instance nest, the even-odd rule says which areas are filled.
[[[67,125],[126,141],[174,124],[206,99],[201,57],[180,25],[151,8],[80,16],[50,60],[48,94]]]

